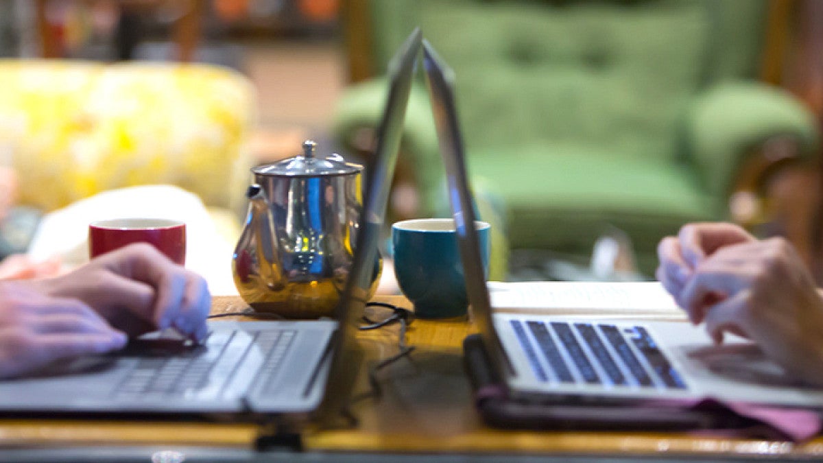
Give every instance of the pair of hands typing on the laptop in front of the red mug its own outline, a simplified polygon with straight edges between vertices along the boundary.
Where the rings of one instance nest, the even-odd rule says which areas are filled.
[[[56,278],[0,282],[0,378],[59,358],[123,348],[173,328],[207,337],[206,281],[154,247],[114,250]]]

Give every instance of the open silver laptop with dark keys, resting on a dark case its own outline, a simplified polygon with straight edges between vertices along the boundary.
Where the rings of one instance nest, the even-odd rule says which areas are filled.
[[[755,345],[727,336],[714,346],[685,322],[495,313],[483,276],[453,72],[423,41],[440,151],[449,181],[467,295],[491,368],[509,395],[539,403],[625,403],[647,399],[823,405],[823,391],[798,385]]]

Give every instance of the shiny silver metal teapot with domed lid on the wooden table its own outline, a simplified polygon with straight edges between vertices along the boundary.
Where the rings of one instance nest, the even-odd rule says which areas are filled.
[[[255,184],[232,258],[235,285],[254,311],[331,316],[353,261],[363,206],[362,167],[342,157],[303,156],[252,169]],[[380,274],[375,269],[370,297]]]

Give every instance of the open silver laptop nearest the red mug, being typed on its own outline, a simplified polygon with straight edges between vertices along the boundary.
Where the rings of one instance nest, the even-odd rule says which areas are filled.
[[[288,414],[316,409],[327,378],[336,381],[336,374],[345,376],[352,368],[340,364],[340,351],[352,342],[351,320],[362,314],[374,276],[379,235],[370,230],[382,225],[420,44],[420,30],[415,30],[390,64],[375,168],[367,170],[360,217],[367,225],[356,237],[337,321],[211,321],[203,346],[146,336],[119,353],[74,358],[0,381],[0,414]]]

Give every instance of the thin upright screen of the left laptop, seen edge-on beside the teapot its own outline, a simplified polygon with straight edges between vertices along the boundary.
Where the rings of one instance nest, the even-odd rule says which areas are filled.
[[[346,291],[337,307],[337,320],[341,325],[329,372],[330,381],[345,377],[345,370],[351,368],[351,365],[344,364],[342,356],[354,347],[352,334],[356,331],[357,320],[368,302],[374,274],[378,270],[378,245],[385,222],[386,203],[398,158],[421,36],[419,28],[414,30],[388,64],[388,97],[379,124],[374,157],[366,168],[366,196],[355,242],[354,262],[346,282]],[[342,408],[341,400],[342,395],[327,392],[321,407],[323,413],[336,413]]]

